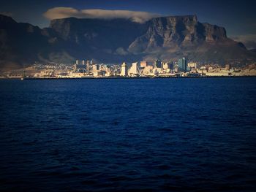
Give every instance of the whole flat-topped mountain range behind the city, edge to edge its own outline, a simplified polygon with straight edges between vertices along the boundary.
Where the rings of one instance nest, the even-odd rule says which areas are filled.
[[[255,52],[227,37],[225,28],[200,23],[195,15],[129,19],[52,20],[49,28],[17,23],[0,15],[0,67],[34,61],[70,64],[75,59],[105,63],[176,60],[218,62],[256,60]]]

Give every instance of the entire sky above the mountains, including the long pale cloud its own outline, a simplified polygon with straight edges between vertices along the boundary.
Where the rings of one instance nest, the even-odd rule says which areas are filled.
[[[202,0],[0,0],[0,14],[18,22],[48,27],[54,18],[135,18],[197,15],[201,23],[223,26],[227,36],[256,48],[256,1]],[[93,10],[91,10],[93,9]]]

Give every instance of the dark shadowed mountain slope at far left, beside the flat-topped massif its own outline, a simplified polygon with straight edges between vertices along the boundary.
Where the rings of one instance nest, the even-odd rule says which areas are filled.
[[[0,15],[0,69],[17,69],[35,61],[49,62],[54,53],[62,52],[59,60],[64,55],[61,49],[64,44],[64,40],[51,28],[17,23]]]

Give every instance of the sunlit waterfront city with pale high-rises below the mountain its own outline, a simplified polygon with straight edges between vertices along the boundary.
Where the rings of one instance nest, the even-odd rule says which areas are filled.
[[[156,59],[153,63],[138,61],[128,64],[97,64],[92,60],[75,61],[75,64],[34,64],[26,69],[12,70],[1,74],[1,78],[23,79],[67,79],[108,77],[241,77],[256,76],[256,64],[233,67],[226,64],[198,66],[186,58],[165,62]]]

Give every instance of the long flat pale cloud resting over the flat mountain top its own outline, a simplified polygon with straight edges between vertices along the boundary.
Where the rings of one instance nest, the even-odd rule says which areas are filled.
[[[159,14],[151,12],[136,12],[129,10],[105,10],[105,9],[75,9],[72,7],[54,7],[43,14],[49,20],[60,18],[132,18],[133,21],[144,23],[145,21],[159,17]]]

